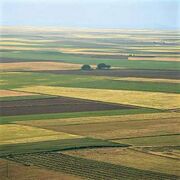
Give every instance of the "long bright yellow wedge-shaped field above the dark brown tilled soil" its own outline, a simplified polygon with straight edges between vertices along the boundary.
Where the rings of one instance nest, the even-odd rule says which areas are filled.
[[[32,86],[20,88],[18,90],[34,93],[43,92],[44,94],[49,95],[75,97],[81,99],[128,104],[156,109],[176,109],[180,107],[180,94],[175,93],[52,86]]]

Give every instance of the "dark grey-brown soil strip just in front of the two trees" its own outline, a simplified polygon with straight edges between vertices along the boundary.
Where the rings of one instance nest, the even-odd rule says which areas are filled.
[[[38,71],[38,72],[53,73],[53,74],[112,76],[112,77],[180,79],[180,71],[177,71],[177,70],[112,69],[112,70],[92,70],[92,71],[47,70],[47,71]]]

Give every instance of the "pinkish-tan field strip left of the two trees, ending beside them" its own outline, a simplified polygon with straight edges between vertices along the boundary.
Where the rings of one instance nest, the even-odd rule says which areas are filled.
[[[80,64],[58,62],[0,63],[0,70],[68,70],[80,69]]]

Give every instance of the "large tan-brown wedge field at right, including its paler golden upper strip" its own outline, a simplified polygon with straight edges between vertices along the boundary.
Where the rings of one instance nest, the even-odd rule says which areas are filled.
[[[146,115],[145,115],[146,116]],[[159,116],[159,117],[158,117]],[[163,115],[162,115],[163,116]],[[134,118],[133,118],[134,117]],[[142,118],[142,119],[141,119]],[[85,122],[84,121],[88,122]],[[101,120],[102,119],[102,120]],[[159,136],[163,134],[179,133],[179,117],[166,116],[161,114],[143,119],[138,115],[132,117],[113,116],[100,118],[79,118],[63,120],[29,121],[19,122],[31,126],[43,127],[55,131],[62,131],[78,135],[87,135],[109,140],[118,140],[130,137]],[[160,137],[161,138],[161,137]],[[127,143],[128,144],[128,143]],[[131,144],[131,143],[129,143]]]

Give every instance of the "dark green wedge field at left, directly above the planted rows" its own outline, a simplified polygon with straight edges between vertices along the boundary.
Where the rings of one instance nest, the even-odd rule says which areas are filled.
[[[0,157],[12,155],[12,154],[23,154],[23,153],[34,153],[34,152],[60,151],[60,150],[93,148],[93,147],[127,147],[127,146],[128,145],[125,144],[113,143],[110,141],[93,139],[93,138],[42,141],[42,142],[34,142],[34,143],[0,145]]]

